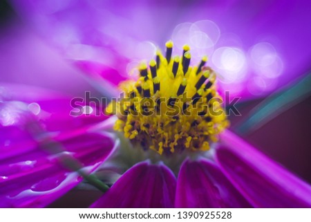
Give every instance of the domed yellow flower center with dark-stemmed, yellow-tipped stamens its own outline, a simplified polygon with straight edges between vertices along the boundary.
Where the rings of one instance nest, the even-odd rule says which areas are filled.
[[[122,82],[124,95],[106,108],[117,115],[114,129],[134,146],[167,155],[206,151],[228,127],[207,57],[190,66],[190,48],[183,49],[182,57],[172,58],[173,42],[168,41],[165,57],[158,51],[149,66],[141,64],[138,80]]]

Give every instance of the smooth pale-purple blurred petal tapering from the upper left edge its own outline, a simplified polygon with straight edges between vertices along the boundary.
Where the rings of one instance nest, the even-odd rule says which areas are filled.
[[[12,19],[9,26],[1,27],[0,51],[0,82],[29,84],[73,95],[82,89],[92,90],[81,71],[70,66],[64,56],[20,19]],[[36,92],[24,93],[35,95]],[[36,97],[42,95],[46,96],[46,92]]]

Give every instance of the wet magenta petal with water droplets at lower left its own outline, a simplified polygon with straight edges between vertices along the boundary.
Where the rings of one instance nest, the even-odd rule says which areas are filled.
[[[0,207],[44,207],[62,196],[82,177],[64,167],[64,160],[79,160],[86,173],[93,172],[111,153],[113,140],[97,133],[55,138],[55,154],[39,145],[27,144],[23,153],[11,154],[0,162]],[[0,147],[1,149],[1,147]],[[3,153],[1,153],[2,155]]]

